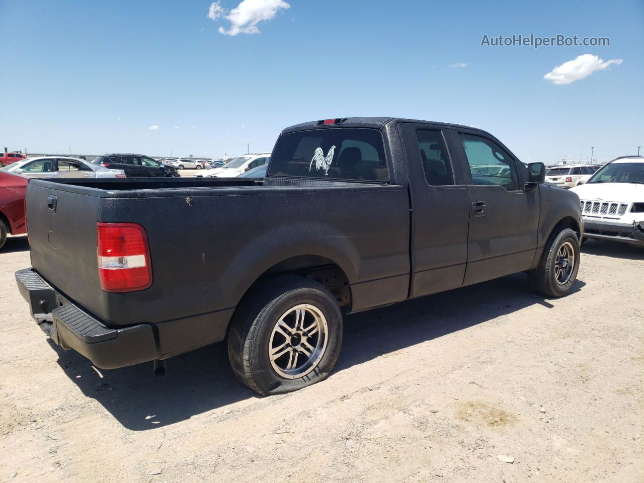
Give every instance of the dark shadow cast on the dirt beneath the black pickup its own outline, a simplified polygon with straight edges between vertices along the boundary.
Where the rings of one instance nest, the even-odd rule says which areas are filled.
[[[574,291],[584,285],[576,281]],[[553,307],[530,292],[525,274],[516,274],[348,316],[335,372],[535,304]],[[209,417],[216,418],[225,414],[229,404],[263,399],[235,379],[223,343],[169,359],[162,379],[153,376],[152,363],[100,371],[100,377],[81,355],[64,352],[51,341],[50,345],[82,393],[102,404],[129,430],[155,430],[213,410],[217,412]]]

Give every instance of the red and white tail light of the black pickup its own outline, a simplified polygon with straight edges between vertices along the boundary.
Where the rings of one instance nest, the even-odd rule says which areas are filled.
[[[106,292],[134,292],[152,285],[146,231],[137,223],[98,223],[100,287]]]

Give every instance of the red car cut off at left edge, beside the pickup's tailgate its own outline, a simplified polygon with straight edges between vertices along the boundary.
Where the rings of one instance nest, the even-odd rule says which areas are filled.
[[[0,171],[0,249],[5,245],[6,235],[27,232],[24,218],[24,194],[29,178]]]

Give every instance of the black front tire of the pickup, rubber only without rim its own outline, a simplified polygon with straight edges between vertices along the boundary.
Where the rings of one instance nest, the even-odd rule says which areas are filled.
[[[560,283],[555,276],[555,262],[557,253],[566,243],[568,243],[567,247],[573,249],[574,262],[569,278],[565,283]],[[549,298],[558,298],[569,294],[577,279],[580,255],[579,240],[573,230],[565,228],[560,232],[553,232],[545,245],[539,265],[527,273],[532,289]]]

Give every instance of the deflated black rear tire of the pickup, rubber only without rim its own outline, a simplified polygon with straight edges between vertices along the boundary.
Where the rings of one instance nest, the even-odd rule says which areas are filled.
[[[300,304],[316,308],[325,317],[327,342],[308,374],[287,379],[272,366],[270,337],[279,317]],[[238,305],[228,334],[228,356],[234,374],[255,392],[292,392],[328,377],[340,354],[342,336],[342,312],[327,287],[304,277],[276,276],[261,283]]]

